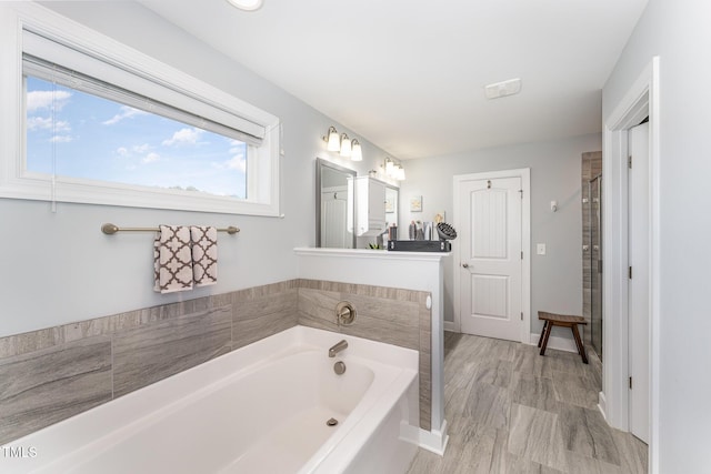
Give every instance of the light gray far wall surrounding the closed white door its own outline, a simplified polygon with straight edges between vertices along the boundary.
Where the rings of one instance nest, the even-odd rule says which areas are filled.
[[[447,157],[408,160],[407,180],[400,189],[400,229],[411,220],[433,220],[447,212],[452,221],[452,185],[455,174],[518,168],[531,169],[531,332],[540,333],[538,311],[582,314],[582,216],[581,154],[602,148],[600,134],[557,141],[501,147]],[[422,212],[410,212],[410,196],[422,195]],[[550,201],[558,201],[552,213]],[[547,255],[535,254],[535,244],[547,244]],[[458,245],[458,241],[452,242]],[[452,259],[444,271],[444,320],[453,321]],[[572,336],[567,332],[554,335]]]

